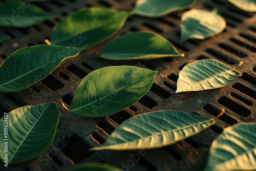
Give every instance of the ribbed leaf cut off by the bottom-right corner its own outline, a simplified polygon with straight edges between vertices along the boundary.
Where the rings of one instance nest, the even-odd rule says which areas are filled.
[[[210,147],[205,170],[255,170],[256,124],[229,126]]]

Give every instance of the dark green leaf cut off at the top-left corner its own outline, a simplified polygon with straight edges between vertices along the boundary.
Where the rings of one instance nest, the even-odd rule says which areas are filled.
[[[46,19],[53,18],[30,2],[7,1],[0,4],[0,26],[5,27],[29,27]]]

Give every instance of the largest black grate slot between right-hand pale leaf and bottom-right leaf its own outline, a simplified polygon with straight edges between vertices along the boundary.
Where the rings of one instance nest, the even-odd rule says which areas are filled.
[[[237,102],[234,102],[233,100],[223,96],[218,100],[218,103],[226,107],[227,109],[233,111],[234,113],[237,113],[238,115],[246,118],[251,114],[251,111],[246,109],[241,104],[238,104]]]

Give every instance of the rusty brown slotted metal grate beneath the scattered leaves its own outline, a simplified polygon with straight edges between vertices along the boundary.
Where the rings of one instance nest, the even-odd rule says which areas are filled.
[[[134,2],[56,0],[36,3],[56,17],[25,29],[0,28],[0,35],[11,37],[0,45],[0,62],[15,50],[44,44],[53,26],[73,11],[91,6],[131,10]],[[126,20],[117,35],[81,52],[32,87],[19,92],[0,92],[1,117],[3,112],[10,112],[19,106],[51,101],[57,102],[61,111],[57,134],[48,151],[33,160],[10,165],[9,170],[70,170],[80,162],[110,163],[124,170],[202,170],[211,142],[225,127],[240,122],[256,122],[256,15],[243,12],[224,0],[199,1],[194,7],[218,7],[227,22],[224,32],[206,40],[193,39],[180,44],[179,25],[184,11],[156,19],[134,15]],[[181,53],[185,53],[185,57],[133,61],[96,58],[95,52],[101,51],[110,40],[135,31],[151,31],[163,35]],[[176,94],[179,71],[189,62],[206,58],[218,59],[230,67],[243,61],[244,64],[238,69],[243,75],[221,89]],[[93,70],[116,65],[133,65],[159,72],[151,90],[133,106],[118,114],[105,118],[87,118],[76,116],[61,107],[61,102],[70,105],[84,76]],[[135,115],[158,110],[178,110],[210,118],[216,116],[222,108],[225,114],[210,129],[174,145],[146,150],[139,157],[136,155],[138,151],[88,151],[90,147],[102,144],[118,124]],[[1,170],[4,169],[2,167],[3,164]]]

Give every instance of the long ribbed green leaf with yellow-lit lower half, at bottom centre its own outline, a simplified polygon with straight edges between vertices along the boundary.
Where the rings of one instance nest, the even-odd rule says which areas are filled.
[[[160,148],[198,134],[215,124],[208,119],[178,111],[150,112],[125,120],[102,144],[91,150]]]

